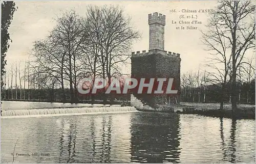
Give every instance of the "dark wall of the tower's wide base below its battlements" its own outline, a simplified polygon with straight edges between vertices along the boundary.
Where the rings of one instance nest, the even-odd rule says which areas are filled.
[[[178,100],[180,100],[180,58],[164,56],[162,54],[151,54],[136,56],[131,58],[132,77],[135,78],[174,78],[173,90],[178,90]],[[164,104],[166,95],[148,95],[133,93],[138,99],[150,104]]]

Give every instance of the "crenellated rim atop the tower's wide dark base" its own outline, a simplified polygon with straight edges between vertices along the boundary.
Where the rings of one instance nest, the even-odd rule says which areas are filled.
[[[170,51],[167,52],[161,49],[150,49],[148,50],[148,52],[146,52],[146,50],[143,50],[142,53],[140,53],[140,51],[137,51],[136,53],[132,52],[132,57],[142,57],[142,56],[157,54],[157,53],[162,54],[164,56],[180,58],[180,53],[175,53]]]

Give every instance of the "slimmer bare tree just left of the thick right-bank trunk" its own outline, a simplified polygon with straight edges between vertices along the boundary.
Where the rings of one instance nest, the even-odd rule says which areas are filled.
[[[210,51],[211,55],[206,64],[206,66],[213,68],[213,71],[209,72],[211,82],[214,84],[221,84],[220,110],[223,110],[228,74],[230,72],[231,56],[228,56],[227,54],[229,44],[227,43],[227,38],[224,36],[226,30],[222,29],[222,26],[219,25],[219,21],[220,19],[218,15],[211,15],[209,22],[206,25],[208,28],[207,33],[202,32],[202,41],[208,47],[206,50]]]

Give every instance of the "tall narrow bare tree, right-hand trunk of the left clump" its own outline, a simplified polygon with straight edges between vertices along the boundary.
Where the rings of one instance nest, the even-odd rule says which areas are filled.
[[[78,62],[81,54],[81,44],[87,41],[87,28],[75,11],[66,12],[57,19],[57,25],[52,32],[55,43],[62,47],[62,54],[67,58],[68,78],[71,102],[77,101],[77,78],[82,70]],[[74,87],[74,88],[73,88]]]

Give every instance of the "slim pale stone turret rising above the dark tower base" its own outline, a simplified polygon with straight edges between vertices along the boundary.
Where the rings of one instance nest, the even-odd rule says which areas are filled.
[[[150,49],[164,50],[165,15],[148,14],[148,24],[150,25]]]

